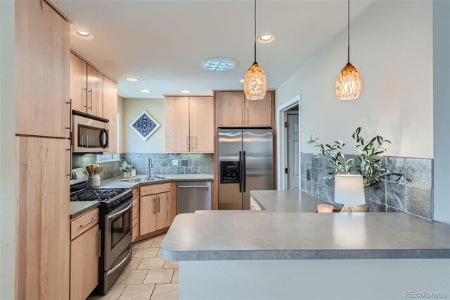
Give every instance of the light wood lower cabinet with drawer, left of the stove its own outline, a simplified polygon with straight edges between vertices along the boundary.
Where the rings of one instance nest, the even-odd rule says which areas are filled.
[[[72,237],[75,235],[70,242],[70,300],[84,300],[98,285],[98,209],[72,220],[70,225]]]

